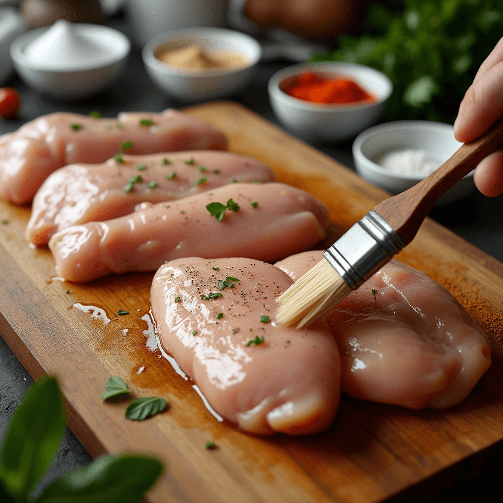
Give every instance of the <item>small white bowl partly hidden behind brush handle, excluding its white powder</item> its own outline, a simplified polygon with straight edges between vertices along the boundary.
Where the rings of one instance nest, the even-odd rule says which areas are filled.
[[[360,176],[392,194],[398,194],[424,177],[390,172],[377,163],[383,154],[410,148],[425,150],[432,157],[445,162],[461,145],[462,143],[454,138],[454,127],[450,124],[431,121],[386,122],[357,136],[353,143],[353,159]],[[474,188],[471,172],[449,189],[437,204],[457,201],[467,196]]]

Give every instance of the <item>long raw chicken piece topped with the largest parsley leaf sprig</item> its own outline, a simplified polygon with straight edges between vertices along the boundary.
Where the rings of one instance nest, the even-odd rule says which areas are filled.
[[[234,211],[226,209],[219,221],[206,208],[210,203]],[[245,255],[274,262],[311,248],[328,226],[322,203],[278,183],[230,184],[180,201],[140,206],[121,218],[54,234],[49,248],[57,274],[90,281],[110,273],[155,271],[165,261],[193,256]]]

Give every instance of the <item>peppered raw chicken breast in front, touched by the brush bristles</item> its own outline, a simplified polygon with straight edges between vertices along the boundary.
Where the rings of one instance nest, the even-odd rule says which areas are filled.
[[[270,264],[241,258],[174,260],[152,282],[163,348],[220,415],[249,432],[318,433],[339,406],[339,352],[326,324],[274,322],[274,299],[292,283]],[[205,300],[212,293],[221,297]]]

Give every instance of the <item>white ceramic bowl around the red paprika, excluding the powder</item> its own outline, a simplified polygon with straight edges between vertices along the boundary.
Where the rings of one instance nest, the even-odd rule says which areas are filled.
[[[325,105],[287,95],[283,90],[304,72],[350,78],[376,101]],[[276,72],[269,80],[268,89],[274,113],[287,129],[307,141],[343,141],[353,138],[377,121],[391,96],[393,85],[386,75],[368,66],[319,62],[288,66]]]

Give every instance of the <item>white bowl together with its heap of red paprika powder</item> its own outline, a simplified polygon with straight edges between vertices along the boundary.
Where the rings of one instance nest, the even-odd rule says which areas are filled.
[[[317,62],[276,72],[268,90],[274,113],[287,129],[307,141],[340,142],[379,119],[393,85],[368,66]]]

